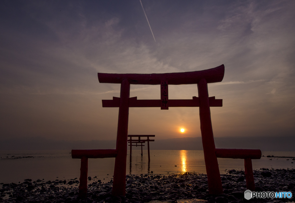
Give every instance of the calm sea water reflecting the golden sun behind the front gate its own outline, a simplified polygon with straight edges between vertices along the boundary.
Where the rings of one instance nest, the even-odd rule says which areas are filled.
[[[0,151],[0,183],[18,183],[24,179],[69,180],[80,176],[80,159],[72,159],[70,150]],[[168,175],[171,173],[206,173],[204,153],[201,150],[132,150],[132,161],[127,154],[127,174]],[[262,152],[262,155],[295,157],[295,152]],[[25,157],[25,158],[22,158]],[[272,159],[272,160],[270,160]],[[289,160],[287,160],[289,159]],[[293,163],[292,163],[293,162]],[[253,169],[294,168],[290,158],[261,157],[252,160]],[[112,179],[115,158],[89,159],[88,176],[97,176],[102,182]],[[220,173],[230,169],[244,169],[244,160],[218,158]],[[1,187],[2,185],[0,185]]]

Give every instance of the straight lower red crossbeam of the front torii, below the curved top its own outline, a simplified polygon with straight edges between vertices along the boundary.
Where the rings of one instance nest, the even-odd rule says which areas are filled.
[[[102,100],[102,107],[119,107],[120,98],[113,97],[112,100]],[[161,107],[160,99],[138,99],[129,98],[129,107]],[[199,107],[199,98],[193,96],[193,99],[169,99],[169,107]],[[215,99],[215,96],[209,97],[210,107],[222,107],[222,99]]]

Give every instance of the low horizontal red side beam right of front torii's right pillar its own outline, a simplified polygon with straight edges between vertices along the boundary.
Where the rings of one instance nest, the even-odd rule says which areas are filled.
[[[238,158],[238,159],[260,159],[260,149],[216,149],[218,158]]]

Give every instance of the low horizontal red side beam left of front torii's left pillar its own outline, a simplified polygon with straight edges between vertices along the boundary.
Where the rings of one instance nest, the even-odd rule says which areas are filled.
[[[72,158],[81,159],[83,156],[86,158],[112,158],[117,156],[115,149],[90,149],[90,150],[72,150]]]

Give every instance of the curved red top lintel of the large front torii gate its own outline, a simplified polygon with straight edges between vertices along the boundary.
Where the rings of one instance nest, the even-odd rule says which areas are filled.
[[[120,84],[127,79],[130,84],[159,85],[161,80],[168,80],[169,85],[197,84],[201,79],[207,83],[221,82],[224,76],[224,65],[202,71],[183,73],[152,73],[152,74],[116,74],[98,73],[100,83]]]

